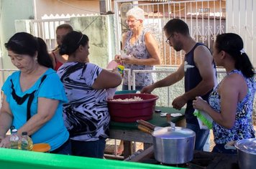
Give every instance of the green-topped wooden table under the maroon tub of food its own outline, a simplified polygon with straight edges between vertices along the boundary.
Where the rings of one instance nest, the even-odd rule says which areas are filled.
[[[171,117],[174,123],[184,119],[185,109],[175,110],[172,107],[155,107],[156,110],[161,110],[167,113],[180,113],[182,116]],[[160,117],[160,113],[153,113],[151,120],[147,122],[152,123],[158,127],[167,127],[170,124],[167,122],[166,117]],[[137,129],[137,122],[110,122],[109,138],[124,140],[124,158],[128,158],[132,154],[132,142],[144,143],[144,148],[149,148],[152,145],[152,135],[142,132]]]

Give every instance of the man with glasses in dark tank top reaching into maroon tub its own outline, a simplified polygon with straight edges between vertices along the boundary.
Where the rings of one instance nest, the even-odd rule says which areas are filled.
[[[201,96],[208,101],[210,92],[217,84],[216,67],[211,52],[204,44],[197,43],[189,34],[188,25],[180,19],[171,19],[164,26],[166,43],[175,51],[183,50],[186,54],[177,71],[154,84],[142,89],[142,93],[150,93],[158,87],[168,87],[181,79],[185,82],[185,93],[173,100],[173,108],[180,110],[187,104],[185,117],[186,127],[196,132],[195,150],[203,150],[209,130],[201,130],[196,117],[192,101]]]

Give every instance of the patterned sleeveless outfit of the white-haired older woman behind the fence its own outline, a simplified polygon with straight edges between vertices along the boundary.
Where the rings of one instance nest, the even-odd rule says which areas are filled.
[[[150,53],[147,51],[145,45],[145,30],[143,30],[140,37],[137,41],[132,45],[130,40],[132,38],[132,31],[127,32],[127,39],[124,42],[124,51],[126,54],[130,54],[137,59],[149,59]],[[153,66],[146,65],[137,65],[137,64],[124,64],[125,69],[131,69],[131,77],[132,79],[132,70],[152,70]],[[132,81],[132,80],[131,80]],[[152,84],[152,75],[150,73],[136,73],[135,74],[135,84],[136,87],[145,87],[147,85]],[[124,84],[128,84],[128,72],[124,71]],[[131,85],[133,82],[131,82]]]

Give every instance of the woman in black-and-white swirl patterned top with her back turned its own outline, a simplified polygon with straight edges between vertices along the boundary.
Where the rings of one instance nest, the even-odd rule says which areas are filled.
[[[86,62],[88,49],[88,37],[75,31],[65,36],[60,47],[60,54],[68,54],[68,62],[58,69],[68,97],[63,117],[73,155],[103,158],[110,121],[106,89],[117,87],[122,77],[116,69],[109,72]]]

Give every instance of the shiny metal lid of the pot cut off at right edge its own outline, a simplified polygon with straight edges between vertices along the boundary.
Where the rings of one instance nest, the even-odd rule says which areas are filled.
[[[239,140],[234,145],[238,150],[256,155],[256,138]]]

